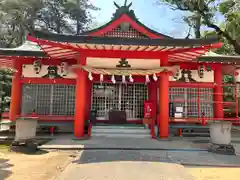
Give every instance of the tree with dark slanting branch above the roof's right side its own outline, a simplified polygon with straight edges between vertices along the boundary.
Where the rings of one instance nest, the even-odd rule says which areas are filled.
[[[240,54],[240,1],[238,0],[160,0],[172,8],[197,14],[201,24],[213,29],[220,38],[224,38]],[[216,12],[225,17],[225,27],[217,23]],[[197,21],[196,21],[197,23]],[[197,27],[197,26],[196,26]],[[199,26],[198,26],[199,28]]]

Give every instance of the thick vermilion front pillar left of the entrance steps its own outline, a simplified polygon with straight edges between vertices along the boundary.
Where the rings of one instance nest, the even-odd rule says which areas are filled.
[[[80,64],[85,64],[86,58],[81,57]],[[75,97],[75,120],[74,136],[76,138],[84,137],[84,121],[86,118],[86,95],[87,95],[87,73],[79,69],[76,72],[76,97]]]

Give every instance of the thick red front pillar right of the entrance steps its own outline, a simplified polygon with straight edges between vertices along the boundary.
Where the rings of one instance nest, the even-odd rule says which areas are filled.
[[[160,138],[168,138],[169,131],[169,73],[163,72],[159,79],[159,129]]]

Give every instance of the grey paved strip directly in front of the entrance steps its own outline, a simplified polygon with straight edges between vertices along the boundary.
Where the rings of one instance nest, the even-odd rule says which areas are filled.
[[[141,150],[206,150],[182,138],[152,140],[150,138],[110,138],[92,137],[89,140],[74,140],[72,136],[62,136],[40,146],[41,149],[141,149]]]

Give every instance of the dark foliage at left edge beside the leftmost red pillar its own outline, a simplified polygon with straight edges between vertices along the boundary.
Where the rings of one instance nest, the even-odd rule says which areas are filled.
[[[0,120],[1,114],[9,110],[13,71],[0,69]]]

